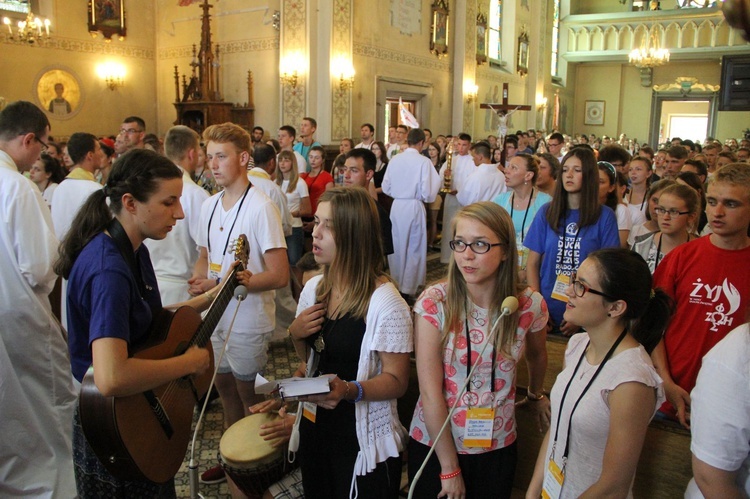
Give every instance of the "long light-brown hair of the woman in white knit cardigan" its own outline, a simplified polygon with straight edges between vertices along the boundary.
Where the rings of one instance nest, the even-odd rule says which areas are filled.
[[[337,315],[349,313],[361,319],[367,315],[378,280],[387,278],[383,269],[378,209],[370,194],[361,187],[329,189],[320,197],[320,203],[331,203],[336,257],[331,264],[323,266],[323,278],[315,290],[316,300],[328,300],[335,282],[346,291]]]

